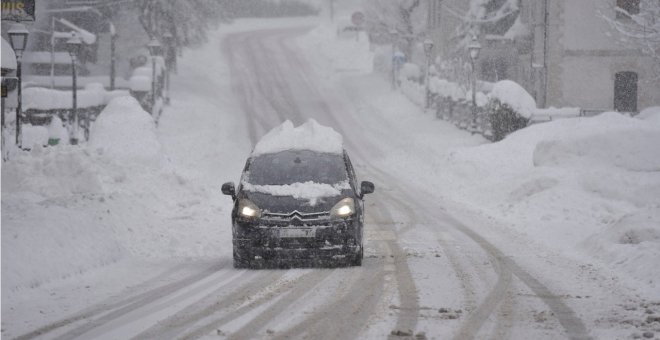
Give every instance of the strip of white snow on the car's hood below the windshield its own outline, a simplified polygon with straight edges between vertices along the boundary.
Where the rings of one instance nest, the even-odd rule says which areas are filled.
[[[286,185],[254,185],[242,182],[243,188],[247,191],[264,193],[272,196],[292,196],[295,199],[308,200],[311,206],[315,206],[319,198],[341,195],[341,190],[350,189],[348,182],[337,183],[334,185],[325,183],[293,183]]]

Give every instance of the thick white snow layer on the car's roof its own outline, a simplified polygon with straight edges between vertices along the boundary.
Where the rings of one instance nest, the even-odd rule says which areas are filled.
[[[344,150],[342,136],[330,127],[310,119],[294,127],[290,120],[270,130],[257,143],[252,155],[276,153],[284,150],[311,150],[341,154]]]

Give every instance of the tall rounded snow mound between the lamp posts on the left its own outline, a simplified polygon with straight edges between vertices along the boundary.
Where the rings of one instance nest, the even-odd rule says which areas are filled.
[[[133,97],[110,101],[92,126],[89,145],[119,162],[151,166],[161,161],[154,121]]]

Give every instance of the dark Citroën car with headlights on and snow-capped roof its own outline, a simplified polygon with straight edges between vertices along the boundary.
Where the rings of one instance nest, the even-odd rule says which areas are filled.
[[[234,201],[234,267],[360,266],[364,196],[374,184],[358,186],[334,130],[311,120],[274,131],[255,146],[238,187],[222,186]]]

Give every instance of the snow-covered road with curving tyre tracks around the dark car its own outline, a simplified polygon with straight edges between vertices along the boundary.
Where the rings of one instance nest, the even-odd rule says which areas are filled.
[[[175,92],[173,105],[162,118],[159,135],[166,141],[165,152],[177,171],[202,178],[211,187],[203,189],[206,195],[217,195],[208,202],[184,206],[181,212],[201,213],[202,216],[191,217],[193,222],[223,229],[219,236],[205,236],[219,237],[214,244],[226,243],[217,260],[159,265],[149,280],[133,277],[137,281],[129,289],[107,294],[102,300],[90,299],[90,304],[77,312],[51,318],[46,325],[12,336],[628,336],[629,331],[621,325],[638,317],[636,308],[628,307],[641,306],[643,301],[605,278],[606,272],[546,249],[474,206],[460,204],[450,194],[436,190],[446,176],[442,164],[438,166],[429,157],[449,153],[456,147],[479,145],[484,140],[421,114],[414,105],[401,101],[400,94],[390,93],[387,82],[379,76],[324,73],[329,66],[322,58],[314,58],[315,51],[305,41],[310,29],[303,24],[239,31],[226,35],[222,41],[211,41],[213,48],[196,52],[197,60],[184,59],[205,62],[221,49],[229,67],[225,71],[231,73],[231,86],[214,87],[218,81],[213,79],[215,73],[175,78],[179,82],[175,89],[187,93],[187,100],[203,98],[205,102],[177,101]],[[209,50],[213,51],[212,56],[201,55]],[[183,66],[184,70],[188,68],[194,67]],[[215,98],[232,94],[234,100],[230,102]],[[375,101],[382,96],[397,97],[392,111],[383,111],[379,106],[382,103]],[[217,115],[208,114],[214,109],[230,111],[232,118],[219,120]],[[182,114],[187,114],[188,119],[177,116]],[[211,217],[217,206],[231,204],[228,198],[220,196],[219,184],[232,178],[217,178],[215,170],[229,168],[238,176],[249,143],[254,145],[260,136],[286,119],[298,125],[308,118],[339,131],[356,163],[358,177],[376,184],[376,192],[366,198],[363,265],[235,270],[230,261],[227,208],[219,214],[221,218]],[[184,122],[188,125],[181,126]],[[413,126],[417,127],[415,131]],[[245,145],[231,152],[213,151],[222,149],[223,140],[233,140],[229,145]],[[208,149],[197,149],[203,145]],[[436,177],[444,179],[435,180]],[[12,321],[13,326],[24,328],[16,326],[20,320]]]

